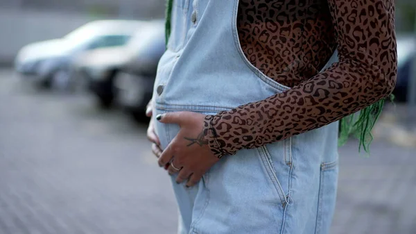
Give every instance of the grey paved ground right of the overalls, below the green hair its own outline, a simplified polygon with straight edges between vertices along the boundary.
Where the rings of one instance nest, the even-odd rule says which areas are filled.
[[[357,146],[340,148],[331,234],[415,234],[415,149],[374,140],[367,157],[358,155]]]

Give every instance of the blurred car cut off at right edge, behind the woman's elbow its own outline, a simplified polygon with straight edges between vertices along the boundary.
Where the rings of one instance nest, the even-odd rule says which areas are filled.
[[[397,83],[393,94],[399,102],[408,100],[410,79],[416,78],[412,74],[416,60],[415,40],[415,35],[397,35]]]

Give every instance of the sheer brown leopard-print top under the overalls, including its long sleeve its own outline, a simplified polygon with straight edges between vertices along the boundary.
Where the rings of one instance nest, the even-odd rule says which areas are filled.
[[[207,115],[218,157],[320,128],[395,87],[394,0],[240,0],[241,47],[252,65],[291,87],[263,101]],[[319,73],[338,49],[339,62]]]

